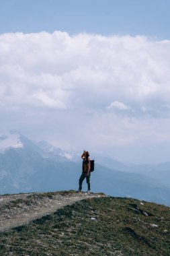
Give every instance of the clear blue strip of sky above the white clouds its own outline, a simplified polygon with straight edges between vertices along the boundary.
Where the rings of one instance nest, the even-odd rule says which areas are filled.
[[[1,0],[0,33],[66,31],[169,39],[169,0]]]

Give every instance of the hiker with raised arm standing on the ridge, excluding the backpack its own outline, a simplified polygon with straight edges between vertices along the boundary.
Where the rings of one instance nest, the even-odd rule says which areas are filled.
[[[79,179],[79,191],[82,189],[82,183],[84,179],[86,178],[88,190],[87,193],[90,193],[90,158],[89,158],[89,152],[85,151],[81,155],[81,158],[83,159],[83,166],[82,166],[82,174]]]

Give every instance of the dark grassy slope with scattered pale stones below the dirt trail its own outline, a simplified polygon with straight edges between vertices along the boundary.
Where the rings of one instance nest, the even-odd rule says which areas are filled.
[[[0,255],[170,255],[169,207],[142,203],[114,197],[79,201],[0,233]]]

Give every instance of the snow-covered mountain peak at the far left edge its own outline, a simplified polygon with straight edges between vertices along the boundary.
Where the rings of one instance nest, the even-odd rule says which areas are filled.
[[[5,152],[9,148],[24,148],[19,133],[14,133],[13,131],[0,133],[0,153]]]

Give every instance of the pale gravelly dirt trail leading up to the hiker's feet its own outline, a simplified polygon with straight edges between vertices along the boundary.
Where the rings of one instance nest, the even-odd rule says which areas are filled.
[[[0,196],[0,232],[27,224],[65,205],[91,197],[103,197],[103,195],[64,191]]]

